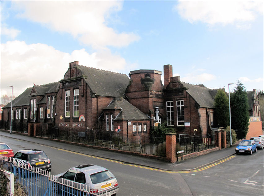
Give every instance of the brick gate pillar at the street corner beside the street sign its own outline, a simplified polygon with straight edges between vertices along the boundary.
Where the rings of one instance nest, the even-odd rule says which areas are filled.
[[[176,162],[176,133],[166,133],[166,158]]]

